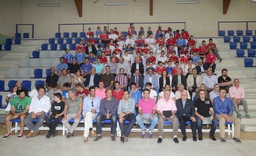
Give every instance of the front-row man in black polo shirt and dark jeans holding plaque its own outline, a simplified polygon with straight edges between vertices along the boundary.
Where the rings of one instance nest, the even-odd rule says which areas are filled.
[[[211,124],[210,138],[216,141],[214,133],[217,127],[217,119],[213,117],[213,105],[205,98],[205,90],[199,90],[199,97],[195,100],[195,119],[197,124],[198,140],[203,140],[202,125]],[[211,114],[209,114],[209,111]]]

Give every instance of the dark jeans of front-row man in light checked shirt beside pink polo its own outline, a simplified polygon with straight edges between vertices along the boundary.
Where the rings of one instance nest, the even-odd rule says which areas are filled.
[[[124,116],[124,119],[125,121],[129,121],[129,124],[127,127],[125,127],[125,124],[124,124],[124,121],[123,123],[120,123],[119,121],[119,127],[120,127],[120,130],[121,130],[121,135],[122,136],[129,136],[130,134],[130,130],[133,128],[133,125],[135,124],[135,115],[134,113],[131,113],[131,114],[127,114]]]

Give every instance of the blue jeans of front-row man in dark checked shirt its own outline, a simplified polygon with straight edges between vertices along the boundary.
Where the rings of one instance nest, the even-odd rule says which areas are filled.
[[[113,115],[110,116],[110,120],[111,120],[111,129],[110,129],[110,134],[111,136],[114,136],[117,130],[117,118],[118,118],[118,114],[114,113]],[[97,132],[97,136],[102,136],[102,121],[107,120],[105,114],[99,114],[96,117],[96,132]]]

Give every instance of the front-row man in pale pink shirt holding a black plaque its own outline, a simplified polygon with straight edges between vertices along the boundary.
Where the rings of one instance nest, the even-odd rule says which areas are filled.
[[[158,114],[158,140],[157,143],[163,141],[163,126],[165,121],[171,121],[173,129],[173,140],[175,143],[179,143],[178,136],[178,118],[175,116],[177,107],[175,101],[170,99],[170,90],[165,90],[163,98],[159,99],[156,104],[156,113]]]

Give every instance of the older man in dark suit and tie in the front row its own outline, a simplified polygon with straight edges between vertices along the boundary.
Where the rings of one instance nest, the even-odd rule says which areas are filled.
[[[195,121],[195,106],[193,101],[187,98],[187,92],[183,91],[181,93],[181,98],[176,101],[177,113],[176,117],[179,119],[179,126],[181,133],[183,135],[183,141],[187,140],[186,134],[186,123],[190,121],[191,130],[193,135],[193,141],[196,139],[196,121]]]

